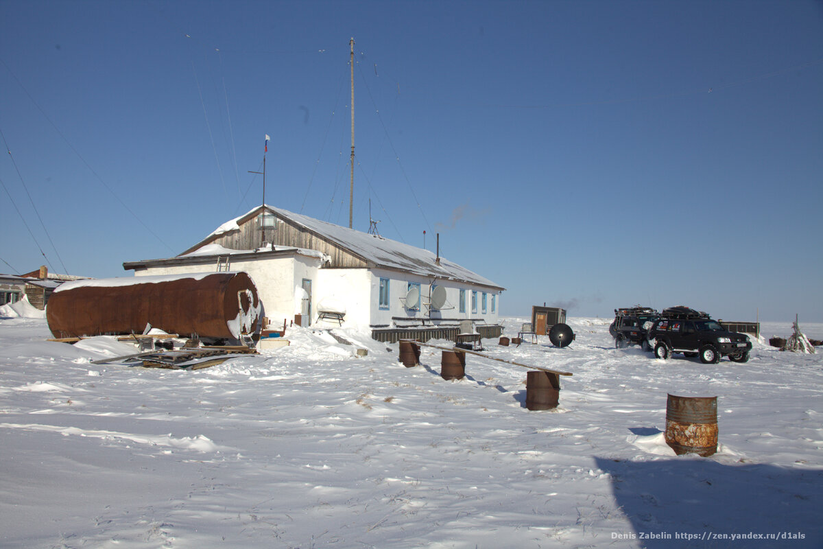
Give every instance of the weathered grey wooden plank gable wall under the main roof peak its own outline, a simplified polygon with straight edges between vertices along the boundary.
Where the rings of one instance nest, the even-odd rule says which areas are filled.
[[[336,268],[368,268],[374,267],[365,259],[352,254],[346,249],[323,239],[319,235],[297,226],[291,221],[277,217],[277,229],[266,228],[266,242],[272,240],[278,246],[293,246],[295,248],[314,249],[331,257],[331,267]],[[257,249],[261,246],[260,223],[261,217],[254,215],[247,220],[239,220],[239,230],[231,230],[217,235],[208,244],[220,244],[230,249]]]

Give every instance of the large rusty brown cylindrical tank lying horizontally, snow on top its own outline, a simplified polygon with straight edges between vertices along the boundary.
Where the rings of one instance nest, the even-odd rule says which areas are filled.
[[[239,339],[259,331],[260,300],[245,272],[102,278],[59,286],[46,317],[54,337],[144,333]]]

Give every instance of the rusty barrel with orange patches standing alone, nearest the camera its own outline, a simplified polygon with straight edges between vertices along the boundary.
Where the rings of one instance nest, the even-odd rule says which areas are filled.
[[[666,402],[666,444],[677,455],[704,458],[718,449],[718,398],[677,397]]]

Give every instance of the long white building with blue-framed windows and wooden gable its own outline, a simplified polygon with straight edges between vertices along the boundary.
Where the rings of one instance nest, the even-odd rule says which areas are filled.
[[[248,272],[275,326],[298,314],[303,325],[337,325],[343,314],[343,325],[393,340],[380,333],[471,319],[484,337],[500,335],[503,287],[428,250],[276,207],[228,221],[177,257],[123,268],[138,277]]]

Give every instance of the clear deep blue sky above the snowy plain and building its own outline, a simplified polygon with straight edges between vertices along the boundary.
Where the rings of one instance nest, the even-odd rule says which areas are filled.
[[[351,37],[355,228],[439,232],[507,315],[823,321],[799,0],[0,0],[0,272],[179,254],[262,200],[265,134],[267,202],[347,226]]]

